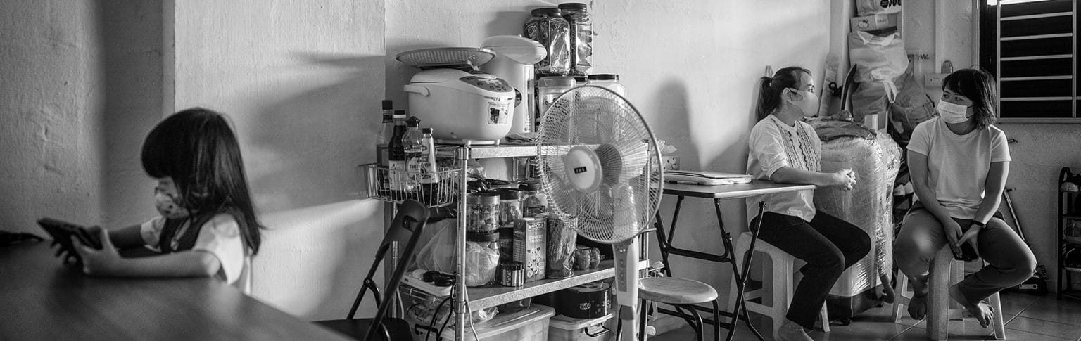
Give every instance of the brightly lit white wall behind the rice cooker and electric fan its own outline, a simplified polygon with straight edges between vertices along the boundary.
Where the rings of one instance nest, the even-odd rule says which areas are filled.
[[[566,1],[388,1],[387,97],[404,103],[401,85],[416,72],[393,59],[398,53],[478,46],[489,36],[520,35],[530,10],[560,2]],[[830,44],[828,0],[587,3],[597,33],[593,72],[619,74],[627,97],[657,138],[679,148],[686,169],[743,173],[758,78],[768,65],[800,65],[820,81]],[[666,219],[673,202],[663,202]],[[743,207],[740,201],[723,205],[733,233],[746,230]],[[709,201],[684,202],[680,229],[682,246],[722,249]],[[658,255],[655,246],[653,255]],[[673,259],[676,275],[726,292],[728,267]]]

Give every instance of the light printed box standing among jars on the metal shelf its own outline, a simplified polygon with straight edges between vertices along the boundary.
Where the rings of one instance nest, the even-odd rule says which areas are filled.
[[[515,255],[511,260],[525,265],[525,282],[545,278],[548,222],[544,217],[515,219]]]

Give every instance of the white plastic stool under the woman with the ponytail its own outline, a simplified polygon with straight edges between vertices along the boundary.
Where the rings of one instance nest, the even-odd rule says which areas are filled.
[[[751,236],[750,232],[744,232],[739,235],[739,241],[736,242],[735,253],[733,255],[736,258],[736,263],[743,264],[743,258],[745,257],[744,255],[747,254],[747,248],[750,246]],[[799,281],[793,277],[797,275],[802,277],[802,274],[799,273],[799,268],[806,262],[796,259],[792,255],[789,255],[788,253],[785,253],[761,240],[758,241],[758,243],[755,243],[755,251],[763,253],[770,256],[770,261],[772,263],[771,268],[773,271],[773,282],[772,284],[763,282],[762,288],[744,291],[745,305],[747,306],[748,312],[756,312],[770,317],[770,329],[773,330],[773,338],[777,339],[777,329],[779,329],[780,325],[785,322],[785,315],[788,314],[788,304],[791,304],[792,302],[795,283]],[[748,269],[744,269],[744,271],[748,271]],[[763,272],[765,270],[763,269]],[[768,295],[770,297],[766,297]],[[755,298],[761,298],[762,303],[750,302],[750,300]],[[772,300],[768,300],[768,298],[772,298]],[[733,276],[731,290],[729,290],[729,304],[731,304],[731,302],[735,302],[735,300],[736,278]],[[829,332],[829,315],[826,312],[826,304],[822,305],[822,312],[818,317],[822,319],[822,330]]]

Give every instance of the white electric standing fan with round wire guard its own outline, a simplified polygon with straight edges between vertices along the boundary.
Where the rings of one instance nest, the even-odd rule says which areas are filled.
[[[577,232],[611,244],[625,341],[637,340],[638,234],[660,202],[656,139],[626,98],[578,86],[556,98],[537,129],[542,188],[558,218],[576,217]]]

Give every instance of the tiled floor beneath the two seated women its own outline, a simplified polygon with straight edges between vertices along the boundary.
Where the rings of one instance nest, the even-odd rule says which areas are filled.
[[[1025,294],[1002,294],[1002,311],[1006,319],[1006,340],[1081,340],[1081,303],[1069,300],[1056,300],[1054,294],[1038,297]],[[830,326],[829,332],[820,329],[810,335],[815,340],[926,340],[925,322],[905,317],[900,322],[890,320],[892,305],[883,304],[853,317],[852,324]],[[757,319],[757,318],[752,318]],[[951,320],[950,340],[995,340],[992,329],[980,328],[971,318]],[[756,328],[762,331],[766,340],[771,339],[764,325],[756,323]],[[963,331],[962,331],[963,326]],[[708,329],[708,328],[707,328]],[[721,329],[721,337],[728,336],[728,330]],[[706,340],[712,340],[712,332],[706,335]],[[690,341],[695,335],[691,327],[682,327],[659,336],[650,338],[656,341]],[[746,326],[736,328],[734,340],[756,340]]]

